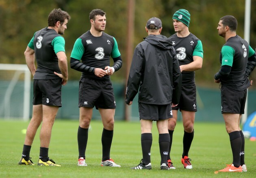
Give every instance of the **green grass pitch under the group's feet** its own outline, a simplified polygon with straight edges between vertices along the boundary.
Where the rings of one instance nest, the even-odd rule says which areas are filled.
[[[101,121],[92,121],[86,150],[87,167],[78,167],[77,129],[78,121],[56,120],[52,130],[49,157],[61,167],[37,166],[39,157],[39,130],[33,142],[30,157],[34,166],[18,165],[22,154],[28,122],[0,120],[0,177],[87,177],[87,178],[253,178],[256,177],[256,142],[245,140],[245,163],[247,172],[214,174],[232,163],[232,152],[224,123],[195,122],[195,136],[189,152],[192,170],[186,170],[180,162],[182,155],[182,123],[174,131],[171,160],[176,170],[160,170],[160,153],[156,122],[153,123],[151,148],[152,170],[130,170],[139,164],[141,153],[141,132],[139,122],[115,122],[111,158],[121,167],[101,167]]]

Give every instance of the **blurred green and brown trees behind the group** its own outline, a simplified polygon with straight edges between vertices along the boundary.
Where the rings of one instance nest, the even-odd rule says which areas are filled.
[[[106,12],[105,32],[117,40],[123,59],[119,74],[113,81],[126,82],[126,46],[129,0],[0,0],[0,63],[26,64],[24,51],[33,34],[47,26],[48,15],[53,8],[61,8],[71,15],[67,24],[65,50],[69,61],[74,42],[90,29],[89,13],[100,8]],[[256,47],[256,3],[252,0],[250,45]],[[163,35],[174,34],[172,15],[180,8],[191,14],[189,31],[202,41],[204,61],[202,69],[196,72],[197,85],[215,86],[213,76],[220,68],[219,53],[224,39],[218,36],[217,25],[224,15],[233,15],[238,21],[237,34],[244,36],[245,0],[135,0],[133,47],[147,36],[146,22],[158,17],[163,23]],[[134,49],[133,48],[133,49]],[[78,80],[80,72],[69,68],[69,80]],[[253,72],[250,79],[256,79]]]

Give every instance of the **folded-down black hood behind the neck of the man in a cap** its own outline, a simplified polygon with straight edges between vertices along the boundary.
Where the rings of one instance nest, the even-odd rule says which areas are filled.
[[[163,35],[149,35],[144,40],[163,50],[171,49],[172,47],[172,41]]]

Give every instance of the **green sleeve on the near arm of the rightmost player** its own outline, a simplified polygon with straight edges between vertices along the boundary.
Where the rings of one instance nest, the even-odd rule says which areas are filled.
[[[223,46],[221,48],[221,56],[222,56],[222,61],[221,61],[221,66],[227,65],[231,66],[233,65],[233,59],[234,59],[234,49],[230,46]]]

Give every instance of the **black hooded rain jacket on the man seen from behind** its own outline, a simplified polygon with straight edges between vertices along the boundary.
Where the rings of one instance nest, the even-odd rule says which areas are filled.
[[[178,104],[182,76],[171,40],[149,35],[137,45],[126,89],[126,104],[138,93],[139,103]]]

